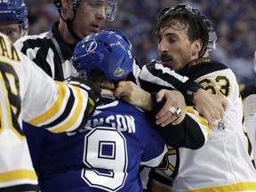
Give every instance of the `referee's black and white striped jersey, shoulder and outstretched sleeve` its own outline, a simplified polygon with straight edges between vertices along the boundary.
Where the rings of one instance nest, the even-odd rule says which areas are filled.
[[[14,45],[26,54],[28,58],[33,60],[36,65],[43,68],[53,79],[64,80],[68,76],[76,73],[76,69],[73,68],[71,62],[76,44],[68,44],[62,39],[58,31],[58,25],[59,21],[54,23],[50,31],[40,35],[23,36]],[[151,78],[157,78],[157,73],[164,73],[166,75],[165,83],[168,82],[169,87],[175,87],[184,94],[190,86],[195,84],[187,76],[180,76],[174,71],[172,73],[165,73],[161,68],[158,68],[161,66],[161,64],[157,64],[156,62],[151,62],[145,65],[140,73],[140,65],[134,60],[133,76],[136,78],[132,78],[132,81],[135,81],[136,84],[141,84],[143,89],[150,90],[152,85],[147,82],[150,82]],[[159,88],[161,86],[158,86],[157,90]]]

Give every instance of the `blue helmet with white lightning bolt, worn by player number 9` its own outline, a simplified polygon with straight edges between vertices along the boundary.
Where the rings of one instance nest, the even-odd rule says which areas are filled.
[[[103,30],[76,44],[72,61],[78,72],[89,76],[93,69],[100,69],[109,82],[117,82],[132,73],[133,58],[123,38]]]

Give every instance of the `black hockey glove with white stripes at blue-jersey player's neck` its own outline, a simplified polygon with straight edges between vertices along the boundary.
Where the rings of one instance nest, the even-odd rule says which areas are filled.
[[[69,76],[63,83],[78,86],[88,92],[89,114],[92,114],[100,101],[100,86],[87,79],[83,72]]]

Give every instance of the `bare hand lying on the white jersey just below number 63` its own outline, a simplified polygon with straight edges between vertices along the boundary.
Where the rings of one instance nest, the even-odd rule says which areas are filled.
[[[193,99],[196,110],[209,122],[212,129],[214,122],[220,122],[228,108],[228,100],[223,95],[215,95],[199,89]]]

